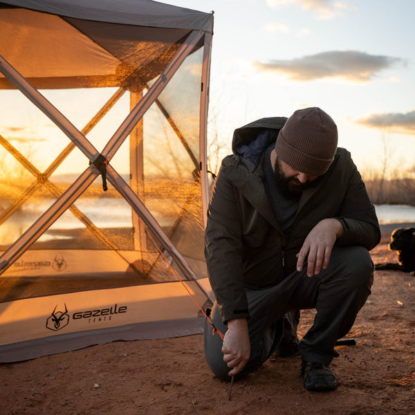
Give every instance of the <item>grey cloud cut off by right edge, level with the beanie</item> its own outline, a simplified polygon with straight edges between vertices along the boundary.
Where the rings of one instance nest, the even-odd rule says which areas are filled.
[[[371,114],[366,118],[356,120],[356,122],[370,128],[387,129],[391,133],[415,136],[415,111]]]

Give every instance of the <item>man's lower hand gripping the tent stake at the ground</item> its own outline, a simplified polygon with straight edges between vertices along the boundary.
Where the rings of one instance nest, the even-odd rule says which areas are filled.
[[[239,374],[250,356],[250,340],[246,318],[228,321],[228,331],[223,339],[222,353],[223,361],[228,364],[228,367],[232,368],[229,376]]]

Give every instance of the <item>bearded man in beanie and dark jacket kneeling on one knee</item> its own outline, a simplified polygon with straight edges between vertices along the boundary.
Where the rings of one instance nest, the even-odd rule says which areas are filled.
[[[368,250],[380,241],[365,185],[337,145],[335,122],[317,107],[234,131],[205,230],[210,318],[225,333],[222,342],[206,322],[205,357],[223,380],[254,371],[287,339],[296,346],[292,317],[315,308],[298,345],[304,387],[337,387],[335,342],[371,292]]]

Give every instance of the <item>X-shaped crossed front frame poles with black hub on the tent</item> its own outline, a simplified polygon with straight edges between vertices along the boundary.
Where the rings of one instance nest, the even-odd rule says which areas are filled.
[[[102,156],[109,160],[116,154],[116,151],[122,145],[122,142],[129,136],[129,133],[136,127],[137,122],[144,116],[145,112],[149,109],[151,104],[155,102],[158,95],[163,91],[165,85],[172,79],[174,73],[181,66],[185,58],[192,53],[192,50],[199,42],[201,37],[205,33],[201,30],[194,30],[189,37],[185,40],[181,48],[178,49],[174,55],[172,61],[165,67],[165,70],[158,77],[156,82],[151,86],[145,97],[136,104],[136,107],[129,113],[124,122],[113,134],[107,145],[102,151]],[[10,82],[17,86],[26,98],[28,98],[36,107],[45,113],[50,120],[55,122],[57,127],[61,129],[68,138],[86,155],[87,158],[93,163],[93,161],[100,155],[98,151],[93,147],[91,142],[75,127],[71,122],[59,111],[53,104],[51,104],[44,96],[37,91],[27,80],[20,75],[15,68],[13,68],[7,61],[0,55],[0,72],[5,75]],[[159,242],[163,247],[171,252],[177,261],[179,268],[190,279],[194,279],[197,282],[196,276],[193,273],[192,268],[187,264],[187,261],[181,256],[180,252],[176,250],[171,241],[169,241],[167,235],[163,232],[158,225],[158,222],[145,208],[145,205],[140,201],[138,196],[133,193],[131,187],[124,182],[122,177],[116,172],[111,165],[107,165],[109,171],[109,181],[116,189],[124,196],[127,202],[130,203],[134,211],[145,221],[145,224],[149,226],[158,237]],[[21,235],[15,243],[0,256],[0,275],[21,255],[30,248],[30,246],[37,241],[37,239],[61,216],[70,205],[72,205],[76,199],[78,199],[82,193],[86,190],[91,183],[98,176],[99,172],[96,167],[91,164],[76,180],[68,187],[66,192],[62,194],[55,203],[44,213],[42,216],[33,223],[30,228]],[[126,197],[127,195],[127,197]],[[140,206],[140,208],[138,208]],[[199,284],[198,284],[199,285]],[[203,290],[205,292],[205,290]]]

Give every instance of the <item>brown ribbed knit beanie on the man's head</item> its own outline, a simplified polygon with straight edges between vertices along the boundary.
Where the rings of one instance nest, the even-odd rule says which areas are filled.
[[[279,131],[275,151],[301,173],[321,176],[333,162],[338,131],[329,114],[317,107],[299,109]]]

